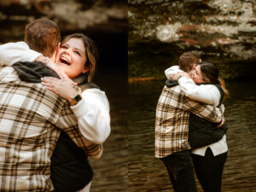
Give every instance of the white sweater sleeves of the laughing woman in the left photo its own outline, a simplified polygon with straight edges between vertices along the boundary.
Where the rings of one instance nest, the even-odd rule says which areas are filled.
[[[35,61],[39,55],[42,54],[29,49],[25,42],[0,45],[2,66],[12,66],[17,61]],[[13,67],[4,67],[1,70],[13,70]],[[18,76],[13,78],[19,79]],[[79,130],[90,142],[104,143],[110,134],[108,98],[99,89],[84,90],[82,98],[77,105],[71,107],[78,118]]]

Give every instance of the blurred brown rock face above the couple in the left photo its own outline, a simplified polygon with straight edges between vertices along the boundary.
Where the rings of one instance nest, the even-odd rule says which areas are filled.
[[[0,42],[20,39],[26,23],[39,17],[55,20],[63,33],[127,31],[125,0],[1,0]]]

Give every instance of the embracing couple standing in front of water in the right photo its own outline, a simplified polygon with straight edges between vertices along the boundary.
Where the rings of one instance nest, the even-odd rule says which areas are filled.
[[[174,191],[220,192],[227,158],[224,80],[212,63],[185,52],[166,69],[166,85],[156,108],[155,156],[169,173]]]

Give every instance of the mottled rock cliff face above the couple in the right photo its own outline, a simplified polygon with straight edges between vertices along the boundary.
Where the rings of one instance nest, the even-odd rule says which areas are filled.
[[[129,74],[159,76],[184,51],[218,64],[226,79],[256,69],[254,0],[129,0]]]

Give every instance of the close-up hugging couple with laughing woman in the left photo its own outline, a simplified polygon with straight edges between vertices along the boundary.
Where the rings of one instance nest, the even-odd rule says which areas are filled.
[[[108,98],[91,83],[96,44],[81,33],[60,41],[55,22],[39,19],[25,42],[0,45],[1,191],[90,191]]]

